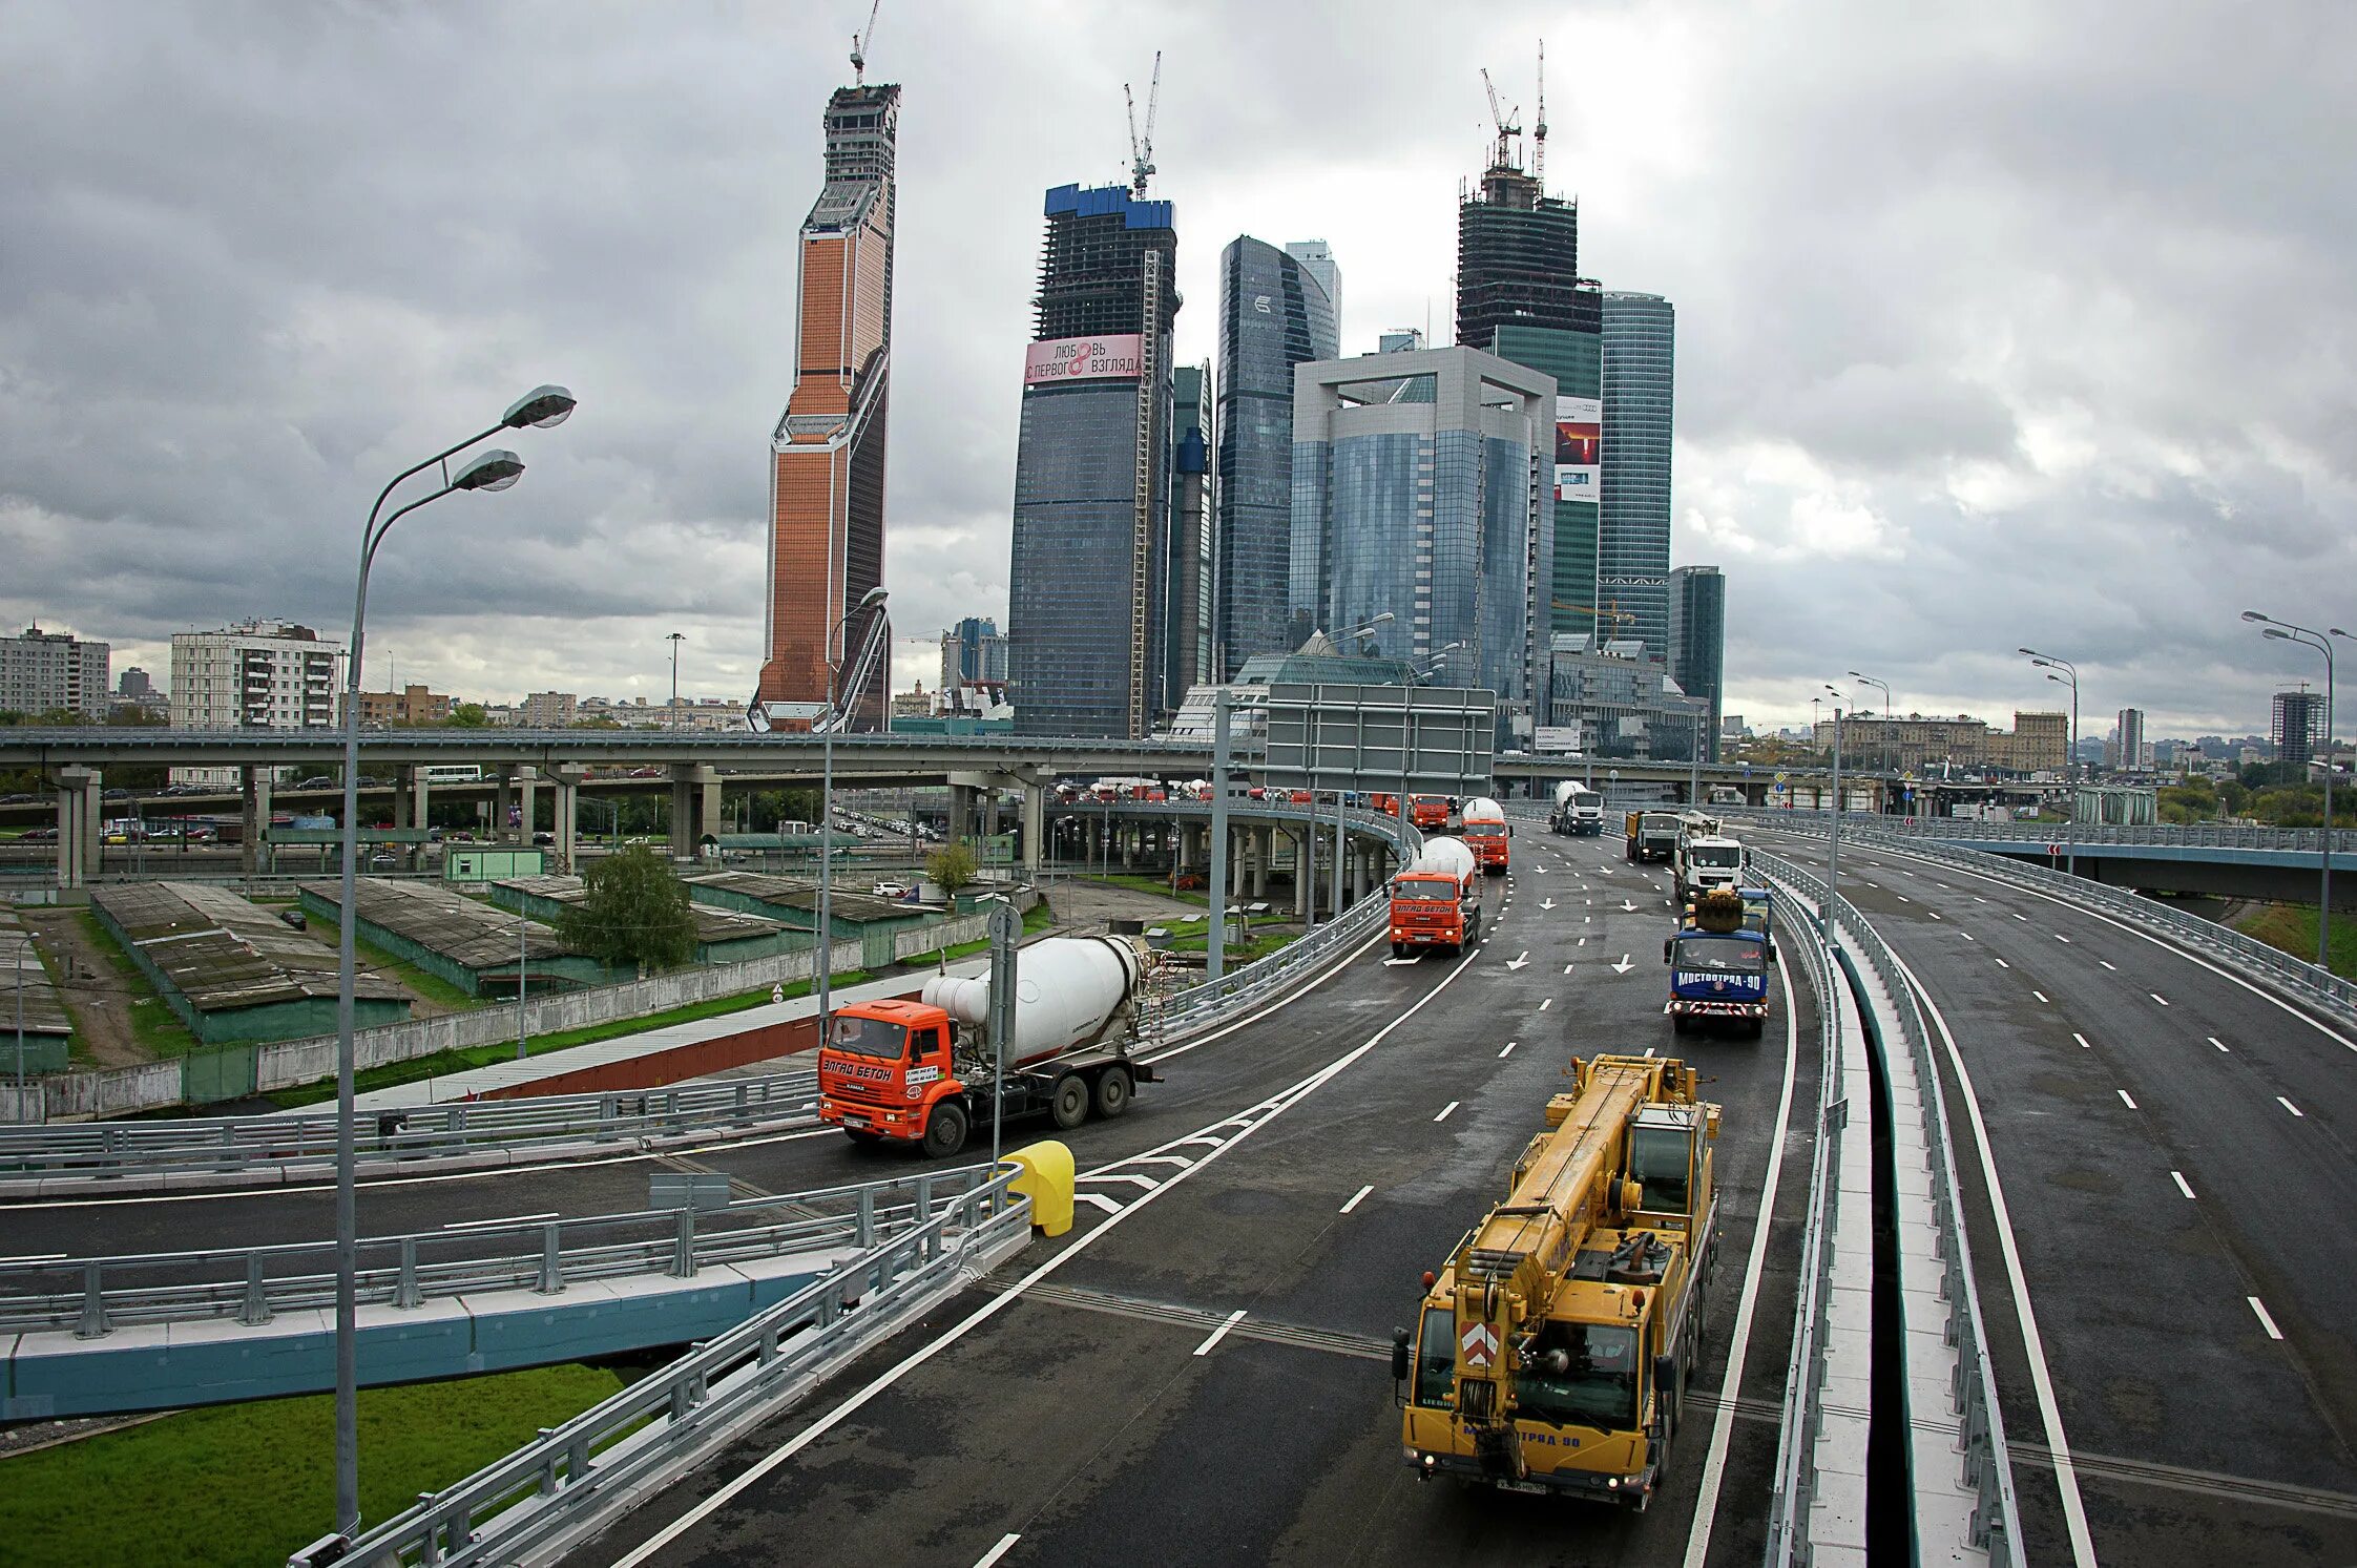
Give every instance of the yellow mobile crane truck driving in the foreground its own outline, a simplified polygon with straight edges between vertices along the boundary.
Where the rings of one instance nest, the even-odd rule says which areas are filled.
[[[1702,1349],[1718,1233],[1718,1106],[1659,1056],[1572,1063],[1417,1332],[1395,1330],[1400,1441],[1421,1476],[1643,1509]]]

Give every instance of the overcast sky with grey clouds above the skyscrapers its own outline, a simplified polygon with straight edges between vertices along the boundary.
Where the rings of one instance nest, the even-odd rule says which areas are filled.
[[[349,627],[394,472],[535,382],[530,472],[401,523],[370,686],[742,698],[794,229],[853,0],[0,0],[0,618],[167,670],[174,630]],[[943,5],[903,85],[889,566],[903,637],[1006,611],[1039,193],[1124,174],[1162,61],[1178,347],[1219,250],[1325,238],[1343,349],[1447,337],[1490,66],[1582,271],[1678,307],[1676,564],[1728,712],[2265,729],[2357,630],[2357,7]],[[905,646],[898,684],[938,660]],[[1879,698],[1874,698],[1879,700]],[[2343,719],[2348,729],[2348,719]]]

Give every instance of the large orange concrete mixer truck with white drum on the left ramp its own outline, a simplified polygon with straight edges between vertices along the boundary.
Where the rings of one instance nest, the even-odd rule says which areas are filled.
[[[1016,960],[1014,1037],[1004,1082],[985,1023],[990,981],[938,974],[915,1002],[837,1009],[818,1049],[818,1120],[856,1144],[917,1144],[933,1158],[1004,1115],[1049,1115],[1058,1129],[1129,1111],[1155,1070],[1131,1054],[1136,1002],[1153,950],[1136,936],[1051,936]]]

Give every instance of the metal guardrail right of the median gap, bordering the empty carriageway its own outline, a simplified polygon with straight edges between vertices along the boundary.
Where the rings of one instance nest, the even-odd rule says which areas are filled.
[[[1801,870],[1791,861],[1780,856],[1754,851],[1770,877],[1777,877],[1787,887],[1794,887],[1803,896],[1815,896],[1817,905],[1824,908],[1824,882]],[[1813,889],[1813,894],[1810,894]],[[1907,976],[1900,971],[1888,943],[1871,924],[1857,913],[1857,908],[1841,896],[1834,896],[1834,931],[1848,946],[1848,950],[1874,969],[1883,990],[1897,1007],[1900,1035],[1907,1042],[1907,1054],[1914,1061],[1916,1092],[1923,1115],[1923,1141],[1930,1158],[1930,1198],[1933,1214],[1937,1219],[1940,1238],[1940,1294],[1947,1302],[1947,1342],[1956,1349],[1956,1384],[1949,1389],[1952,1415],[1956,1415],[1963,1438],[1963,1474],[1961,1481],[1975,1490],[1978,1502],[1973,1507],[1973,1544],[1989,1554],[1992,1563],[2008,1563],[2018,1568],[2022,1563],[2022,1526],[2020,1511],[2013,1497],[2013,1462],[2006,1450],[2006,1422],[1996,1403],[1996,1370],[1989,1363],[1987,1330],[1980,1316],[1980,1290],[1973,1280],[1973,1250],[1966,1238],[1963,1226],[1963,1193],[1956,1186],[1956,1158],[1947,1137],[1947,1099],[1940,1089],[1940,1066],[1933,1059],[1930,1030],[1923,1023],[1923,1012],[1916,1004],[1914,988],[1907,986]],[[1791,1391],[1787,1389],[1787,1398]],[[1777,1488],[1780,1502],[1787,1507],[1796,1504],[1796,1497],[1784,1497],[1782,1488],[1787,1483],[1787,1471],[1780,1460]],[[1805,1542],[1794,1542],[1794,1530],[1805,1535],[1805,1504],[1798,1507],[1798,1518],[1784,1521],[1787,1556],[1777,1556],[1777,1535],[1770,1530],[1770,1563],[1805,1563]],[[1789,1554],[1798,1544],[1798,1554]]]

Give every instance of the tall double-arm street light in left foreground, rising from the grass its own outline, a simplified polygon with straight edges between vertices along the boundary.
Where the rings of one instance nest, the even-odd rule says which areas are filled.
[[[354,953],[358,950],[358,913],[354,910],[354,884],[361,865],[361,644],[368,622],[368,568],[377,559],[377,545],[394,523],[431,505],[453,490],[504,490],[523,476],[523,460],[504,448],[493,448],[464,462],[457,474],[450,460],[469,446],[481,446],[500,431],[563,424],[573,413],[573,394],[563,387],[535,387],[516,398],[490,429],[476,431],[457,446],[434,453],[424,462],[401,469],[377,493],[377,505],[368,509],[368,526],[361,531],[361,573],[351,594],[351,655],[344,660],[344,898],[337,920],[335,960],[335,1528],[351,1535],[361,1526],[361,1379],[358,1379],[358,1285],[354,1252],[358,1247],[358,1200],[354,1193],[354,1134],[351,1134],[351,986]],[[441,467],[441,488],[384,514],[401,481]],[[519,976],[521,983],[521,976]]]

